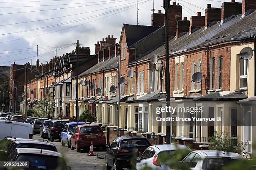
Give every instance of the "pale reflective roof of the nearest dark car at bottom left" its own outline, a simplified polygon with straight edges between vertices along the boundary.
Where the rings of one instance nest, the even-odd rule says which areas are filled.
[[[62,157],[61,153],[54,152],[51,150],[35,149],[35,148],[16,148],[18,154],[28,153],[28,154],[38,154],[38,155],[49,155]]]

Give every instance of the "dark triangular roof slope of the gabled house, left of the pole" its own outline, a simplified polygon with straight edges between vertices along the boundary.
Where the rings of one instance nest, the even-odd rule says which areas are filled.
[[[123,24],[123,28],[125,31],[126,44],[128,47],[159,29],[159,27],[130,24]]]

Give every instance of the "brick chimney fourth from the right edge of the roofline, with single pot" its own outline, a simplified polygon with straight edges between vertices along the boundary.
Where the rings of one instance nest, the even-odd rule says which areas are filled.
[[[195,32],[205,25],[205,17],[201,16],[201,12],[197,12],[197,16],[190,17],[189,34]]]

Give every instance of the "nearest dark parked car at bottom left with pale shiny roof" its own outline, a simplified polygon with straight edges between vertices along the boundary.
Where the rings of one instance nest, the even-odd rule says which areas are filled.
[[[71,170],[62,155],[51,150],[16,148],[8,161],[28,161],[28,170]]]

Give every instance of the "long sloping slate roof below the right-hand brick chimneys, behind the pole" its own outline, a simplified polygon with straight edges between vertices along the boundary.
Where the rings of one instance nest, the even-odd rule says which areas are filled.
[[[236,15],[223,24],[219,21],[206,30],[205,27],[202,27],[190,35],[187,32],[178,39],[172,38],[169,40],[170,53],[175,54],[197,47],[207,47],[207,44],[218,44],[220,42],[253,37],[256,34],[256,11],[244,18],[241,17],[242,15]],[[163,45],[164,42],[162,45],[141,54],[143,57],[137,57],[138,60],[136,62],[148,60],[153,54],[158,56],[165,55],[165,47]]]

